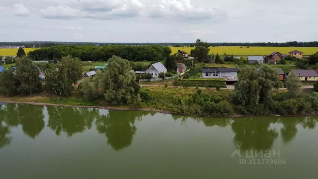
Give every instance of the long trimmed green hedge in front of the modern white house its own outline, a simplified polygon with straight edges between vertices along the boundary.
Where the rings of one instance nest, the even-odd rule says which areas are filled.
[[[173,82],[173,86],[185,86],[185,87],[204,87],[204,80],[195,80],[195,81],[191,81],[191,80],[176,80]],[[215,81],[215,80],[207,80],[205,82],[205,87],[209,87],[209,88],[216,88],[216,87],[220,87],[220,88],[226,88],[226,83],[225,80],[224,81]]]

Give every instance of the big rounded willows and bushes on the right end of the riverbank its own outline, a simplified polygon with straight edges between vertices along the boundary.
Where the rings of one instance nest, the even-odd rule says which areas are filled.
[[[318,93],[301,94],[301,81],[293,73],[285,81],[289,93],[273,95],[273,89],[283,87],[277,74],[276,68],[265,64],[260,66],[259,72],[251,66],[242,68],[238,74],[239,81],[234,84],[234,103],[242,107],[245,113],[257,115],[269,111],[295,115],[317,110]]]

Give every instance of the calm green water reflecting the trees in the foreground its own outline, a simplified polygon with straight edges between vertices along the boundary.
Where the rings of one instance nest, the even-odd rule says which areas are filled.
[[[317,121],[3,104],[0,178],[316,179]]]

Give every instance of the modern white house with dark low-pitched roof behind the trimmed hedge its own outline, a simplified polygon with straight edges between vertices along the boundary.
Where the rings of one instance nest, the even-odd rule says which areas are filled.
[[[237,80],[237,68],[204,67],[201,78],[223,78],[226,80]]]

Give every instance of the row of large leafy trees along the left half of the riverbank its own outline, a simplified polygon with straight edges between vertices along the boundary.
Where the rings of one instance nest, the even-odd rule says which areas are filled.
[[[138,107],[139,85],[135,82],[135,73],[129,72],[131,63],[120,57],[108,59],[107,70],[94,77],[94,85],[86,78],[79,90],[88,100],[94,100],[99,94],[104,95],[113,105],[131,104]],[[17,61],[17,69],[4,70],[0,73],[0,94],[13,96],[17,94],[33,94],[43,89],[49,93],[70,96],[73,85],[82,78],[82,65],[79,58],[62,57],[58,64],[50,64],[45,69],[45,85],[39,78],[39,67],[26,56]],[[139,100],[139,101],[138,101]]]

